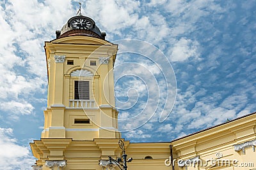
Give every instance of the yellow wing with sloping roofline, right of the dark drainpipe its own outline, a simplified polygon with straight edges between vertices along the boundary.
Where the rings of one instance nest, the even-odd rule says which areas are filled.
[[[177,160],[199,157],[200,164],[187,169],[256,169],[256,113],[176,139],[172,146]]]

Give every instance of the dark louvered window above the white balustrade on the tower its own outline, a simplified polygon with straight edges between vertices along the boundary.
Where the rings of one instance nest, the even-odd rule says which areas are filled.
[[[90,100],[89,81],[75,81],[75,99]]]

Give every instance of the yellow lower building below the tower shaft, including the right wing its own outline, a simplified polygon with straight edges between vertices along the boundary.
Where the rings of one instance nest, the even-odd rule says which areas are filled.
[[[175,170],[252,170],[256,169],[256,114],[169,143],[130,143],[124,141],[127,169]],[[45,138],[31,143],[41,169],[102,170],[99,160],[122,157],[119,138],[95,138],[93,141]],[[172,146],[172,147],[170,147]],[[172,157],[170,155],[172,148]],[[51,161],[53,166],[45,163]],[[62,161],[65,166],[58,166]],[[119,169],[116,167],[115,169]]]

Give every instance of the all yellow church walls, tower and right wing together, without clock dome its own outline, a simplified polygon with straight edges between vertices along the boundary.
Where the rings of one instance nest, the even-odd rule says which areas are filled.
[[[118,45],[84,32],[45,42],[48,101],[41,139],[30,144],[38,159],[33,169],[100,170],[99,160],[121,157],[113,76]],[[88,82],[86,99],[76,99],[80,81]],[[166,143],[122,141],[132,170],[256,169],[255,132],[253,113]],[[231,163],[217,164],[223,160]]]

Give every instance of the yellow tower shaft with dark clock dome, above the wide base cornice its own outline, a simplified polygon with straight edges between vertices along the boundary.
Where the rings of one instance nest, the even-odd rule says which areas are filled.
[[[117,45],[83,15],[45,42],[48,103],[42,138],[120,138],[113,65]]]

